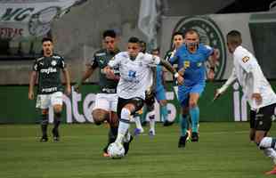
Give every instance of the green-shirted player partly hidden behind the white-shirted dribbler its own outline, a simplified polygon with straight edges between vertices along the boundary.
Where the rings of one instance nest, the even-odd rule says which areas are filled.
[[[108,157],[107,148],[111,142],[114,142],[118,132],[118,116],[116,114],[118,96],[117,85],[118,75],[107,76],[103,73],[103,69],[107,66],[109,61],[119,52],[117,44],[117,34],[113,29],[107,29],[102,34],[103,48],[93,54],[92,60],[86,64],[85,73],[82,78],[75,85],[78,91],[81,84],[93,75],[93,71],[99,68],[99,85],[101,93],[97,93],[95,99],[95,106],[92,110],[93,120],[96,125],[101,125],[104,121],[110,124],[109,141],[107,146],[103,149],[103,156]]]

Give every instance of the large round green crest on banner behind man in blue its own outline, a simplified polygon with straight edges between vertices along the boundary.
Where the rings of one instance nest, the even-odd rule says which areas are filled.
[[[199,32],[200,43],[213,47],[218,52],[218,59],[215,64],[215,79],[222,79],[226,66],[226,43],[224,42],[223,33],[216,25],[215,21],[208,16],[189,16],[184,17],[176,23],[173,31],[185,31],[189,28],[196,29]],[[173,47],[173,38],[171,42]],[[209,70],[209,61],[207,61],[207,72]]]

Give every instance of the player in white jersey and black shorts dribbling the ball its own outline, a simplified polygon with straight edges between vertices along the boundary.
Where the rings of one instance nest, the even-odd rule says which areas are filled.
[[[139,109],[142,109],[145,99],[145,91],[150,81],[150,66],[161,64],[175,74],[177,81],[182,84],[183,77],[179,75],[173,66],[167,61],[149,53],[140,53],[139,39],[131,37],[127,43],[127,52],[118,53],[105,72],[109,75],[112,69],[118,68],[120,79],[118,92],[118,136],[117,144],[122,144],[128,133],[130,117]],[[127,138],[126,138],[127,139]]]

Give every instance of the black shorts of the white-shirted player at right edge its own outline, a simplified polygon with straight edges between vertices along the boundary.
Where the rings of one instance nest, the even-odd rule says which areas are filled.
[[[266,131],[268,132],[272,127],[272,119],[274,116],[274,110],[276,108],[276,103],[265,106],[256,112],[255,117],[255,126],[254,128],[257,131]]]

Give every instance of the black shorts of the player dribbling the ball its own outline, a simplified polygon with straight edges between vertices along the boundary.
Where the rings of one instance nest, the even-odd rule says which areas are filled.
[[[142,98],[131,98],[131,99],[124,99],[118,97],[118,105],[117,105],[117,115],[120,118],[121,117],[121,110],[126,106],[126,104],[133,103],[135,106],[135,110],[131,113],[131,115],[134,115],[134,113],[140,109],[142,109],[143,106],[143,100]]]

